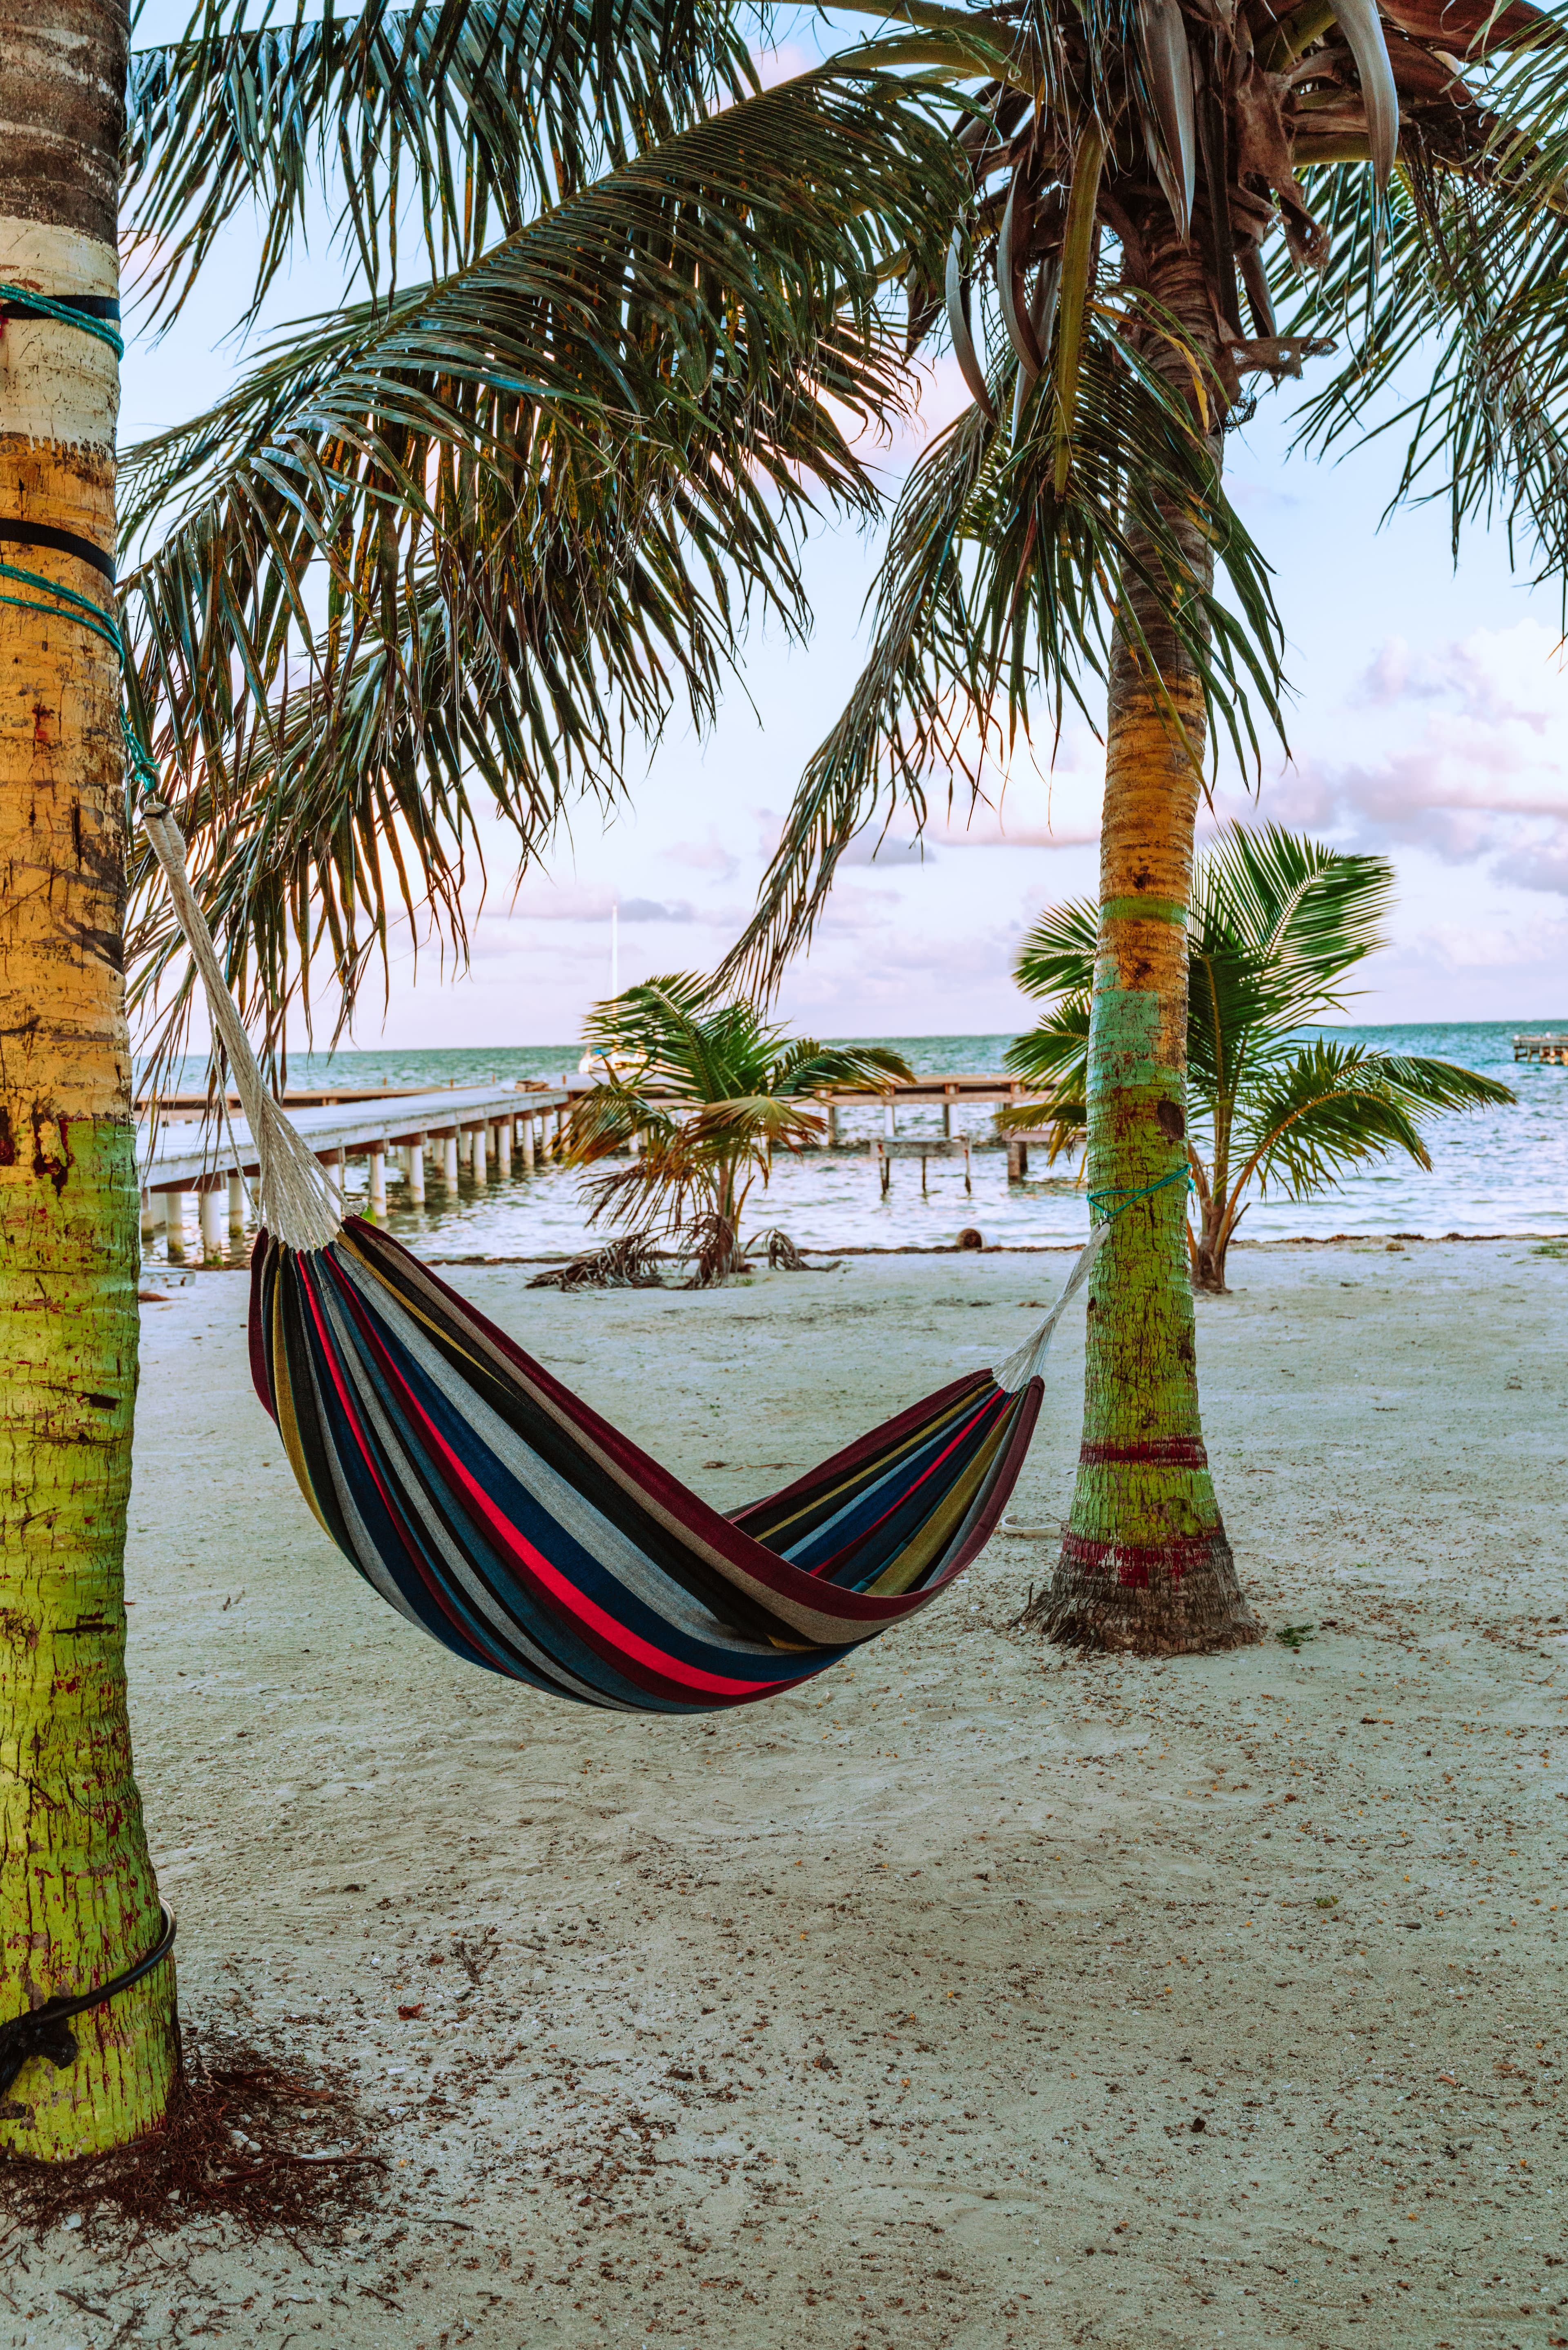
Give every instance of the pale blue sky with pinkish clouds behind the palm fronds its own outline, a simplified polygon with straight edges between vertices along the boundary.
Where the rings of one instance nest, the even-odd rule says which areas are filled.
[[[158,16],[176,9],[160,9]],[[150,19],[162,31],[158,16]],[[146,38],[146,35],[143,35]],[[806,63],[785,49],[771,73]],[[193,315],[160,345],[132,341],[122,439],[221,395],[242,352],[221,308],[249,256],[235,230]],[[273,320],[329,308],[341,268],[324,240],[268,306]],[[1474,531],[1450,559],[1446,508],[1382,519],[1399,444],[1338,463],[1291,451],[1302,385],[1265,392],[1229,435],[1229,494],[1265,557],[1286,625],[1288,759],[1265,750],[1255,794],[1222,773],[1220,820],[1269,820],[1335,846],[1378,851],[1399,877],[1389,947],[1363,971],[1368,1022],[1519,1020],[1568,1025],[1568,674],[1559,592],[1514,576],[1502,531]],[[875,451],[889,498],[924,439],[961,404],[950,360],[929,371],[919,414]],[[677,717],[628,757],[604,813],[583,801],[543,865],[517,877],[501,827],[484,830],[484,900],[473,893],[468,973],[400,938],[390,996],[367,996],[360,1046],[564,1043],[609,992],[611,907],[621,985],[708,971],[743,928],[783,811],[865,658],[863,604],[882,531],[823,526],[806,548],[811,639],[757,630],[717,724]],[[1044,905],[1095,891],[1103,757],[1067,724],[1011,761],[973,808],[959,778],[931,780],[931,825],[905,815],[858,841],[830,909],[790,968],[780,1018],[827,1036],[992,1034],[1027,1022],[1011,966]],[[303,1034],[294,1039],[303,1043]]]

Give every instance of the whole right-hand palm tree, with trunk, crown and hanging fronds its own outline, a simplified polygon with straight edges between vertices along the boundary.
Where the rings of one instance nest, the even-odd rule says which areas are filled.
[[[1502,512],[1568,569],[1568,89],[1528,0],[889,0],[971,115],[971,195],[910,338],[971,407],[891,524],[872,649],[806,766],[724,978],[771,982],[846,844],[1001,776],[1105,689],[1086,1072],[1088,1295],[1063,1636],[1258,1638],[1220,1518],[1185,1264],[1187,907],[1211,738],[1279,731],[1267,566],[1222,489],[1248,381],[1300,376],[1316,446],[1403,430],[1401,496]],[[1288,315],[1281,315],[1286,313]],[[987,357],[987,350],[992,352]],[[1255,717],[1253,717],[1255,712]]]

